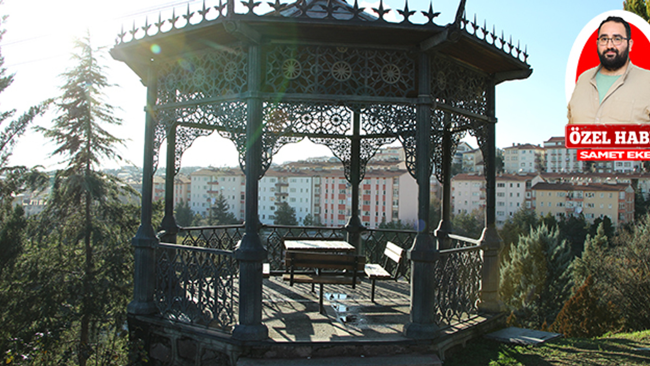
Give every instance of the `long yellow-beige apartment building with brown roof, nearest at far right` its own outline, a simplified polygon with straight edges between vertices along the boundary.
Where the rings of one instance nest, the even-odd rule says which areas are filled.
[[[634,190],[626,183],[549,183],[532,186],[532,206],[539,216],[583,214],[587,221],[608,216],[614,225],[634,220]]]

